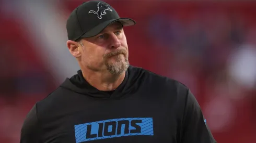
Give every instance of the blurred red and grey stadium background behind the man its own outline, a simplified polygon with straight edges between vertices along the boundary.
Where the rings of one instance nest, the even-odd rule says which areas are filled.
[[[0,142],[19,142],[34,103],[79,69],[65,24],[82,2],[0,1]],[[256,2],[106,2],[137,22],[132,65],[191,88],[218,143],[256,142]]]

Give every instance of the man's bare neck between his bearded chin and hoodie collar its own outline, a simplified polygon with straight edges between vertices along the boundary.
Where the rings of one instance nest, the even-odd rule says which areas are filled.
[[[101,91],[111,91],[117,89],[118,86],[123,82],[125,72],[121,75],[113,75],[109,72],[87,72],[83,71],[85,80],[91,85]]]

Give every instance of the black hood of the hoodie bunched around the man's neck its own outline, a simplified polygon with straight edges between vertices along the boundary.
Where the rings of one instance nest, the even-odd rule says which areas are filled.
[[[144,79],[144,70],[129,66],[125,71],[125,77],[119,87],[113,90],[112,94],[109,92],[101,91],[91,86],[83,77],[82,71],[78,70],[77,74],[66,80],[61,84],[60,87],[72,90],[75,93],[83,94],[93,98],[111,99],[111,98],[122,98],[126,95],[130,95],[142,85]]]

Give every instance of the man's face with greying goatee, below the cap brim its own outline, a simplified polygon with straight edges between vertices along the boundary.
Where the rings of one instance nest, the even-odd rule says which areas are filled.
[[[112,23],[94,37],[84,38],[82,43],[81,62],[90,70],[108,70],[117,75],[129,67],[128,46],[119,22]]]

